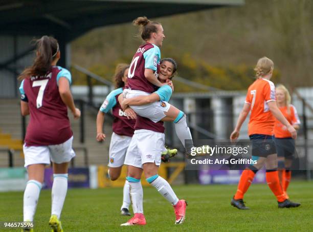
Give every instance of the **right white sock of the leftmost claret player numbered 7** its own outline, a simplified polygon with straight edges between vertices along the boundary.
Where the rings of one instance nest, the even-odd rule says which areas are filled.
[[[60,218],[66,192],[68,191],[69,174],[53,174],[51,215]]]

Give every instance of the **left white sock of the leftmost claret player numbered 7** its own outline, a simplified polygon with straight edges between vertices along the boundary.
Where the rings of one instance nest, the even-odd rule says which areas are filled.
[[[24,221],[33,221],[42,184],[36,180],[27,182],[24,192]]]

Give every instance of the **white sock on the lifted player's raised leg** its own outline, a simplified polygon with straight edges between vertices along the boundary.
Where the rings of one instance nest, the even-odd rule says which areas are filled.
[[[175,125],[176,135],[183,143],[185,149],[189,151],[191,147],[193,147],[193,142],[192,142],[192,137],[191,137],[189,127],[187,125],[186,115],[184,115],[178,122],[174,123],[174,125]],[[189,140],[189,141],[185,141],[185,140]]]

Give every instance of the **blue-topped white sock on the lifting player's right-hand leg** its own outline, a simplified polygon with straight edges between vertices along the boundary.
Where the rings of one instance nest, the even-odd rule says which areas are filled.
[[[155,188],[157,188],[158,192],[165,197],[168,202],[170,202],[172,205],[177,204],[178,198],[176,194],[174,193],[172,187],[169,185],[169,183],[163,179],[159,175],[154,175],[152,177],[147,178],[147,181]]]

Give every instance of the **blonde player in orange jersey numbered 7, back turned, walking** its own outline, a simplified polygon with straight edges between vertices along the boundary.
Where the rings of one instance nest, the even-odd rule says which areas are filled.
[[[257,160],[257,163],[250,165],[242,172],[237,192],[231,201],[231,205],[238,209],[249,209],[243,203],[243,195],[248,191],[257,171],[265,164],[266,181],[277,198],[278,207],[298,207],[299,203],[291,202],[285,197],[279,184],[277,154],[273,140],[275,118],[286,126],[286,129],[294,139],[297,137],[297,132],[277,107],[275,86],[270,81],[274,70],[273,61],[267,57],[262,57],[258,60],[254,70],[256,71],[257,79],[248,88],[243,109],[230,139],[235,141],[238,138],[241,125],[251,111],[248,133],[252,142],[252,159]]]

